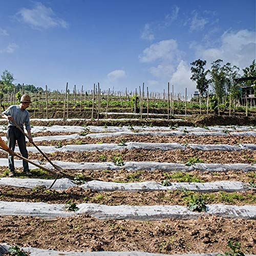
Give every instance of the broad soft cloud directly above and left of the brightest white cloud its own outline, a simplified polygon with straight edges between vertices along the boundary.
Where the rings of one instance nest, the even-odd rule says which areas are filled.
[[[177,41],[174,39],[159,41],[143,50],[139,56],[141,62],[152,62],[155,60],[174,60],[180,58],[182,52],[178,50]]]

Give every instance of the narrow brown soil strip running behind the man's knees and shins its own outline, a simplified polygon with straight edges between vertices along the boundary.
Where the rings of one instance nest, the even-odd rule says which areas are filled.
[[[190,158],[199,158],[203,163],[247,163],[256,162],[256,151],[149,151],[149,150],[127,150],[122,151],[94,151],[94,152],[56,152],[46,154],[52,160],[65,162],[115,162],[116,157],[121,157],[123,162],[168,162],[187,163]],[[0,158],[6,158],[7,153],[0,152]],[[37,159],[46,162],[40,153],[29,152],[29,159]]]

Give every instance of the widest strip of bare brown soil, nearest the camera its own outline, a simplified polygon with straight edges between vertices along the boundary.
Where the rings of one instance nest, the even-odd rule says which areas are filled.
[[[47,221],[32,217],[0,217],[0,242],[65,251],[146,251],[209,253],[228,251],[228,239],[241,251],[255,254],[255,221],[215,216],[198,220],[97,220],[87,215]]]

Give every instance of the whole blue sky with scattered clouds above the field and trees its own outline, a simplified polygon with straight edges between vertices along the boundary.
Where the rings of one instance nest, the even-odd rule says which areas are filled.
[[[0,73],[64,90],[196,90],[190,63],[255,58],[255,0],[1,0]]]

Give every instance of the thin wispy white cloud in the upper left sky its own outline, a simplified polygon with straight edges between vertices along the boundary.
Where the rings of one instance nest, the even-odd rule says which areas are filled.
[[[68,28],[68,23],[57,17],[51,8],[36,3],[34,9],[22,8],[16,13],[20,22],[29,24],[34,29],[48,29],[54,27]]]

